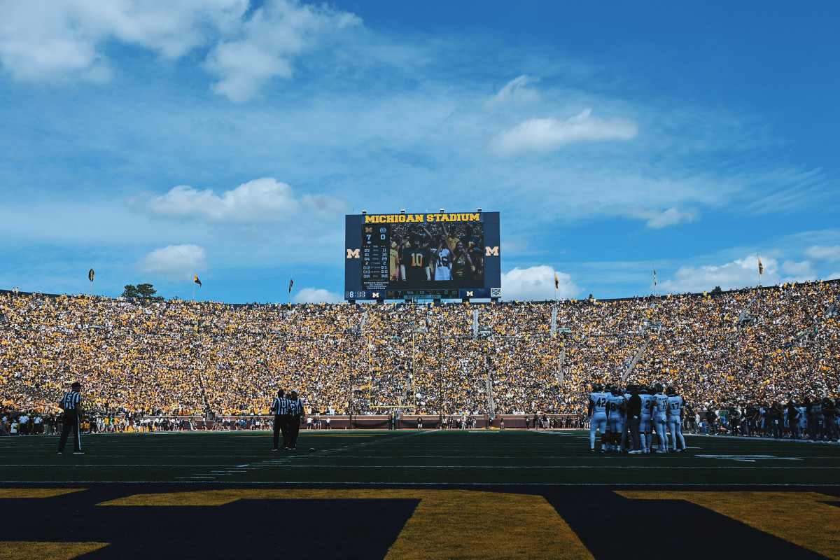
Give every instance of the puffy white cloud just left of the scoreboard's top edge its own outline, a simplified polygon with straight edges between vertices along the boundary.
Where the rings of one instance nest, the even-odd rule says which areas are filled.
[[[202,217],[211,222],[281,222],[302,209],[328,216],[344,210],[344,203],[323,195],[295,196],[291,186],[271,177],[239,185],[221,196],[213,190],[176,186],[146,202],[146,208],[160,216]]]

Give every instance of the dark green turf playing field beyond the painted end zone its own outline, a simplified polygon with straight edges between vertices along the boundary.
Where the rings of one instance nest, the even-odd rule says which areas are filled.
[[[271,452],[270,432],[0,439],[0,479],[19,482],[404,484],[837,484],[840,444],[686,435],[685,453],[588,453],[589,432],[311,431]],[[68,447],[71,449],[72,445]],[[314,452],[309,449],[314,447]],[[600,447],[597,446],[597,447]]]

